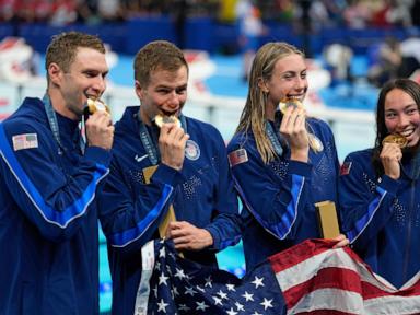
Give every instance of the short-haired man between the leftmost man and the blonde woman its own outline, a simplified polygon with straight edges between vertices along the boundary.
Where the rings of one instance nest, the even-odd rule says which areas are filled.
[[[100,198],[113,314],[139,312],[141,247],[159,230],[185,258],[205,265],[217,265],[215,252],[237,243],[241,233],[224,141],[213,126],[182,114],[188,88],[183,51],[164,40],[145,45],[135,78],[141,105],[128,107],[116,124]],[[162,224],[172,211],[176,221]]]

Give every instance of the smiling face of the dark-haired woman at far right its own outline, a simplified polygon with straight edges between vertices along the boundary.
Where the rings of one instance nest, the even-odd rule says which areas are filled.
[[[415,100],[400,89],[390,90],[384,104],[385,126],[389,133],[407,138],[407,147],[415,147],[420,139],[420,114]]]

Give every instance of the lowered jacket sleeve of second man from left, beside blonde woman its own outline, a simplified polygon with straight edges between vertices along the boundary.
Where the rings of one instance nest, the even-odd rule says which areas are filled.
[[[226,147],[221,136],[219,143],[219,185],[214,192],[214,219],[206,226],[206,230],[208,230],[213,237],[213,246],[209,249],[215,250],[235,245],[241,240],[238,200],[228,163]]]

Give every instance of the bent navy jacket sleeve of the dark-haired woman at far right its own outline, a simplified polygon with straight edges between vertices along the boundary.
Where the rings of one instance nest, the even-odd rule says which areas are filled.
[[[342,228],[350,244],[363,249],[376,237],[393,215],[393,201],[398,182],[384,175],[381,179],[368,179],[362,165],[370,166],[371,161],[357,159],[354,154],[346,158],[347,171],[339,177],[339,200]],[[343,173],[343,172],[341,172]]]

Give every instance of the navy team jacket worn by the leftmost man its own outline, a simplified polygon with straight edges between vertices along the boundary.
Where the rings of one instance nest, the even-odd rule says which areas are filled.
[[[92,200],[110,155],[81,155],[78,122],[57,116],[62,155],[38,98],[0,125],[0,314],[98,313]]]

